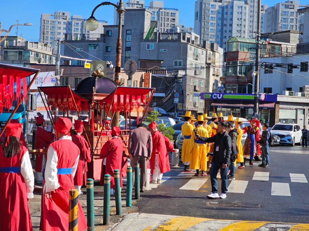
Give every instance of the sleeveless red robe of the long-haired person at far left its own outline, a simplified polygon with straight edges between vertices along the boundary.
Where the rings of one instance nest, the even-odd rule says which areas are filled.
[[[19,155],[4,157],[0,145],[0,167],[21,166],[23,155],[28,149],[21,146]],[[0,229],[14,231],[32,230],[25,181],[21,173],[0,173]]]

